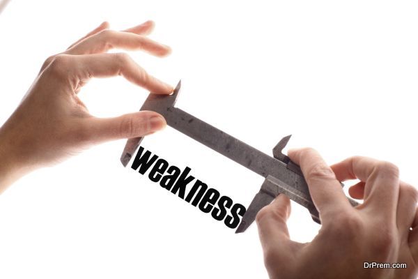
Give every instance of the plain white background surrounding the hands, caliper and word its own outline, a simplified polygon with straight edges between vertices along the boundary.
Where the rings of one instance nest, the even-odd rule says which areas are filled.
[[[47,56],[103,20],[123,29],[151,19],[151,38],[173,53],[131,55],[182,80],[178,107],[265,153],[292,133],[288,146],[313,146],[328,163],[389,160],[418,185],[417,14],[416,1],[13,0],[0,15],[0,122]],[[116,116],[148,93],[117,77],[80,94],[92,114]],[[124,144],[29,174],[0,196],[1,278],[267,278],[256,226],[235,235],[123,168]],[[263,182],[172,128],[143,144],[245,206]],[[319,226],[292,206],[291,238],[310,241]]]

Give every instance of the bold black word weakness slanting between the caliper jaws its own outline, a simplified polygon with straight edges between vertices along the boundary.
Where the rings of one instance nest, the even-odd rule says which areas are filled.
[[[219,191],[209,188],[206,183],[199,179],[194,181],[194,176],[189,175],[192,170],[189,167],[185,167],[181,171],[176,166],[170,166],[166,160],[158,158],[150,151],[144,152],[142,146],[139,146],[137,156],[132,163],[132,169],[140,174],[145,174],[149,170],[150,181],[160,183],[162,188],[178,195],[193,206],[198,206],[202,212],[210,213],[215,220],[224,220],[224,224],[231,229],[238,226],[240,216],[244,216],[246,211],[242,204],[234,204],[230,197],[221,196]]]

